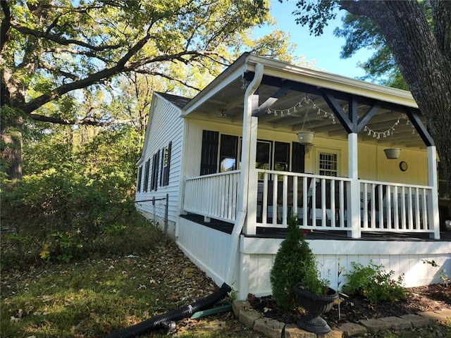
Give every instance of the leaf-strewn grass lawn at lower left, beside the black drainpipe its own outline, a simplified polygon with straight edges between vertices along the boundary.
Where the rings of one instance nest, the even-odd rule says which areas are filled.
[[[37,336],[42,330],[71,332],[73,337],[92,332],[101,337],[113,327],[140,323],[218,289],[173,242],[140,256],[96,257],[8,271],[2,273],[0,285],[2,314],[10,318],[11,330],[26,327]],[[194,329],[200,323],[207,321],[182,320],[176,330]],[[5,337],[19,336],[27,337],[18,331]]]

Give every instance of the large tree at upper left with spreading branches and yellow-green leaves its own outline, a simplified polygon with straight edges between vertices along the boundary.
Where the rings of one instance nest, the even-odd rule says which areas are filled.
[[[228,63],[228,46],[240,45],[240,32],[271,18],[261,0],[8,0],[0,6],[1,163],[11,180],[22,176],[27,121],[130,122],[82,107],[120,74],[199,90],[174,69],[218,70]]]

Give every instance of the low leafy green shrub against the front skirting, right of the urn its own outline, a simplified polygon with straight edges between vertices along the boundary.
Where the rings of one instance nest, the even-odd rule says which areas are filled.
[[[346,294],[362,296],[371,303],[406,298],[407,292],[402,287],[404,275],[393,280],[392,275],[395,273],[393,270],[387,273],[383,270],[383,265],[376,265],[373,262],[366,267],[355,262],[351,265],[354,270],[345,275],[347,283],[342,288]]]

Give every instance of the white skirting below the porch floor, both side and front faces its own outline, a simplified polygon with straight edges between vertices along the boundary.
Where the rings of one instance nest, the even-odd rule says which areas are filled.
[[[231,244],[231,236],[225,230],[221,225],[216,225],[215,229],[184,217],[180,217],[178,224],[178,246],[218,285],[226,280]],[[249,293],[256,296],[271,294],[269,273],[283,241],[280,234],[278,237],[270,237],[267,233],[240,236],[233,285],[230,285],[238,291],[238,299],[246,299]],[[341,285],[346,282],[345,274],[352,271],[352,262],[364,266],[370,262],[383,265],[385,270],[394,271],[393,278],[404,275],[405,287],[439,283],[440,269],[451,271],[449,239],[431,240],[426,236],[414,238],[405,234],[398,239],[384,239],[380,233],[377,237],[360,239],[350,239],[345,234],[335,237],[327,234],[321,239],[321,234],[314,232],[307,234],[307,240],[316,254],[322,277],[330,280],[333,288],[338,285],[339,262],[345,269],[340,275]],[[440,268],[433,268],[423,260],[433,260]]]

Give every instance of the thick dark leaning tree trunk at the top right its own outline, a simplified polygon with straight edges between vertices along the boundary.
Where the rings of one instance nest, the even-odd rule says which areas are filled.
[[[416,1],[340,1],[340,4],[350,13],[366,15],[379,25],[426,119],[451,192],[451,57],[447,55],[450,49],[444,49],[441,43],[447,37],[440,37],[440,30],[435,30],[434,35]],[[443,20],[449,20],[447,15],[443,15]],[[449,23],[434,25],[448,27]]]

